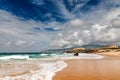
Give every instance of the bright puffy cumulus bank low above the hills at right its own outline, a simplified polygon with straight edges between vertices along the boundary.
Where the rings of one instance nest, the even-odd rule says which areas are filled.
[[[89,26],[90,27],[90,26]],[[65,48],[82,46],[86,44],[113,44],[120,42],[120,29],[113,28],[111,26],[105,25],[100,26],[98,24],[91,25],[90,29],[73,30],[69,33],[65,31],[64,33],[59,33],[57,38],[58,46]]]

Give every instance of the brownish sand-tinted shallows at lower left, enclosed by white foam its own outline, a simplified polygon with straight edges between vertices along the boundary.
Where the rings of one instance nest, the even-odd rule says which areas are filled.
[[[25,74],[30,74],[30,70],[38,70],[39,67],[34,64],[27,63],[2,63],[0,64],[0,78],[4,78],[5,76],[20,76]]]

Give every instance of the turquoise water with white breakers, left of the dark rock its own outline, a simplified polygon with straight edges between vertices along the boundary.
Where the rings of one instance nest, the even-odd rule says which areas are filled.
[[[38,58],[52,58],[62,57],[65,53],[0,53],[0,60],[5,59],[38,59]]]

